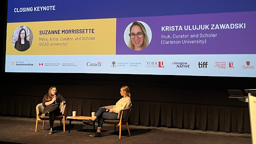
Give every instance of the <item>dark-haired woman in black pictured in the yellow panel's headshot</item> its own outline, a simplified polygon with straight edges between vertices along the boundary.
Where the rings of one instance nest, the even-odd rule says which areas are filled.
[[[18,51],[25,51],[30,47],[29,41],[26,40],[26,31],[24,28],[21,28],[18,33],[18,40],[15,41],[14,47]]]

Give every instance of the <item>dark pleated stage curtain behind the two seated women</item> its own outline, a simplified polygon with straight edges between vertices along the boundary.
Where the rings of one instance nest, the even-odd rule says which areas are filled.
[[[0,115],[35,117],[35,106],[42,97],[10,96],[0,100]],[[65,98],[66,115],[90,116],[100,106],[118,99]],[[129,123],[147,126],[250,133],[248,107],[152,102],[132,100]]]

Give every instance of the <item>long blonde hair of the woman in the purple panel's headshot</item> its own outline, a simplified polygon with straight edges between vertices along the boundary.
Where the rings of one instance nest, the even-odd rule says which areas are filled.
[[[144,32],[144,40],[143,40],[143,43],[141,45],[141,49],[144,49],[148,44],[149,44],[149,40],[148,40],[148,36],[147,36],[147,33],[146,33],[146,28],[144,27],[143,24],[141,24],[140,22],[138,21],[134,21],[132,22],[131,26],[130,26],[130,32],[131,32],[131,28],[134,26],[134,25],[138,25],[142,32]],[[132,41],[129,39],[129,44],[128,46],[131,48],[131,49],[134,49],[135,46],[134,44],[132,43]]]

